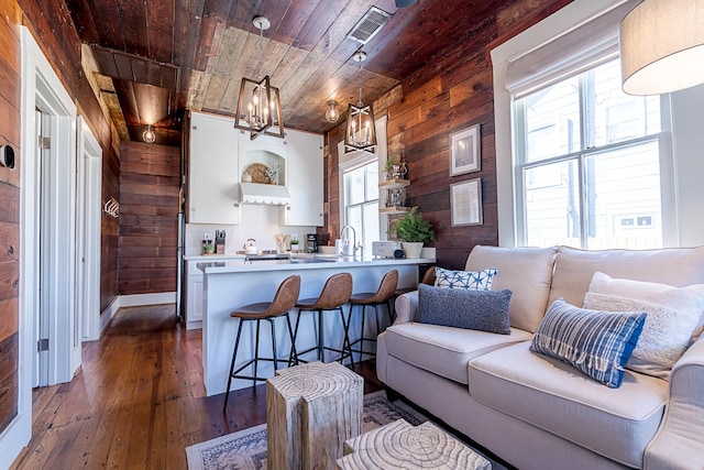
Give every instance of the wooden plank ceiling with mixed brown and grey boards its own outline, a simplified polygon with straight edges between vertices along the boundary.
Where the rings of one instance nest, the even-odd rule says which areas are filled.
[[[147,124],[157,143],[180,144],[188,109],[234,116],[243,76],[256,78],[260,35],[266,17],[263,75],[280,89],[286,127],[326,132],[327,101],[343,112],[372,101],[465,40],[494,11],[515,0],[66,0],[90,64],[123,139],[139,141]],[[391,20],[365,45],[348,39],[376,7]],[[360,72],[351,59],[367,53]],[[109,81],[112,79],[112,86]]]

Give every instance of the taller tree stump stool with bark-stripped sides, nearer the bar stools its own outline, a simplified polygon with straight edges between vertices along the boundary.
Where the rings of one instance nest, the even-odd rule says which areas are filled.
[[[364,379],[337,362],[276,371],[266,381],[270,470],[334,469],[346,439],[362,434]]]

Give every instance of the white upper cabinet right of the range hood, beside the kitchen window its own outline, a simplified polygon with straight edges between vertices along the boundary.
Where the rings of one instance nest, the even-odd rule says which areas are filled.
[[[286,130],[286,185],[290,203],[280,208],[284,226],[322,227],[322,135]]]

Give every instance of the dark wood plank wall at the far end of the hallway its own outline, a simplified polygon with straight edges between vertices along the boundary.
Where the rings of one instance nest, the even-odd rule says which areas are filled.
[[[176,291],[180,147],[122,142],[119,292]]]

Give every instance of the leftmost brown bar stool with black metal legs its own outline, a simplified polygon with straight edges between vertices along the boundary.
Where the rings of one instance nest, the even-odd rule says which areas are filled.
[[[292,340],[292,350],[294,357],[296,356],[296,347],[294,343],[294,330],[290,327],[290,318],[288,317],[288,310],[294,308],[296,300],[298,300],[298,294],[300,293],[300,276],[293,275],[286,277],[278,288],[276,295],[272,302],[260,302],[257,304],[250,304],[238,308],[230,313],[232,318],[239,318],[240,325],[238,327],[238,336],[234,340],[234,350],[232,351],[232,363],[230,364],[230,376],[228,378],[228,387],[224,392],[224,405],[222,406],[222,413],[226,413],[228,407],[228,397],[230,396],[230,385],[232,379],[251,380],[256,385],[257,381],[266,381],[267,378],[260,378],[256,375],[258,361],[274,362],[274,370],[278,369],[278,358],[276,356],[276,330],[274,328],[274,319],[280,316],[286,317],[286,324],[288,325],[288,335]],[[260,358],[260,323],[266,320],[272,327],[272,357]],[[242,325],[245,321],[256,321],[256,339],[254,347],[254,359],[248,361],[244,365],[234,370],[234,364],[238,358],[238,348],[240,347],[240,336],[242,335]],[[290,365],[292,357],[288,358],[288,364]],[[242,370],[254,363],[254,375],[239,375]]]

